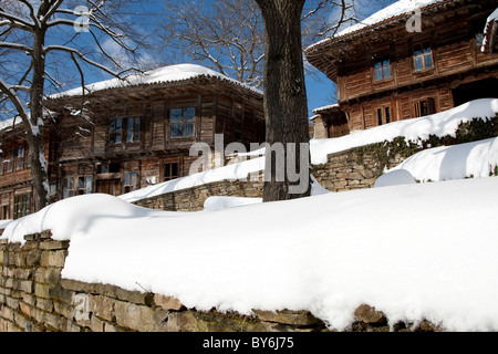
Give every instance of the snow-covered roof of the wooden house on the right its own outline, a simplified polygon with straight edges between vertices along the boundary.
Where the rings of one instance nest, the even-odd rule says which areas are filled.
[[[439,3],[453,1],[455,0],[398,0],[393,4],[375,12],[371,17],[360,21],[359,23],[340,31],[339,33],[335,34],[335,37],[324,39],[320,42],[310,45],[305,51],[309,52],[317,49],[318,46],[321,46],[322,44],[331,43],[345,37],[357,35],[364,32],[365,30],[372,29],[380,24],[388,23],[391,21],[404,17],[413,15],[414,11],[416,10],[425,10]]]

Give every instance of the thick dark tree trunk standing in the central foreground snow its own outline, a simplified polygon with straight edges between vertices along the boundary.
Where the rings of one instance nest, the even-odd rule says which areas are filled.
[[[263,201],[300,198],[311,189],[300,21],[305,0],[256,1],[264,22],[266,139],[271,147],[267,147]]]

